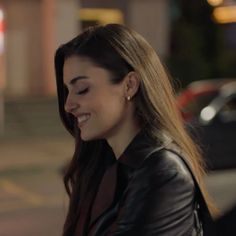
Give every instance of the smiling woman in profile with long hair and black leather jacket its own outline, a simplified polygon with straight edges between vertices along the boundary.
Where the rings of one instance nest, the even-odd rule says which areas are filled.
[[[202,235],[199,188],[213,211],[203,163],[147,41],[125,26],[95,26],[57,50],[55,68],[75,138],[63,236]]]

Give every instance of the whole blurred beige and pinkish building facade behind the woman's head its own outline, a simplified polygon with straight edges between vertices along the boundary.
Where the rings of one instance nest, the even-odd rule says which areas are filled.
[[[165,57],[168,7],[168,0],[0,0],[4,13],[0,89],[6,97],[54,95],[55,49],[81,31],[85,19],[80,13],[85,9],[118,10],[123,17],[120,23],[141,33]],[[102,12],[105,23],[113,22]]]

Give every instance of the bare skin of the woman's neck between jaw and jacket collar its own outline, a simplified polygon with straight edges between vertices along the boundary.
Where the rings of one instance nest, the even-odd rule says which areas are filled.
[[[116,159],[119,159],[121,154],[124,152],[126,147],[132,141],[132,139],[137,135],[140,131],[140,127],[135,122],[131,124],[124,125],[120,130],[119,133],[113,137],[107,139],[107,142],[111,146]]]

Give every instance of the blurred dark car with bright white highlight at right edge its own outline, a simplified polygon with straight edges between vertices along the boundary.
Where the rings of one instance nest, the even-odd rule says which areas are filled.
[[[223,83],[215,92],[187,126],[209,169],[236,168],[236,80]]]

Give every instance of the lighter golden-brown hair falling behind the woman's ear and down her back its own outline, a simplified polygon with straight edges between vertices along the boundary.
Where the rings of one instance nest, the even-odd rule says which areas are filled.
[[[138,74],[138,115],[148,124],[152,136],[161,139],[159,134],[164,132],[180,147],[214,215],[216,209],[203,183],[205,163],[201,150],[186,132],[166,68],[152,46],[136,31],[112,24],[105,26],[104,30],[109,35],[107,41],[110,45]]]

